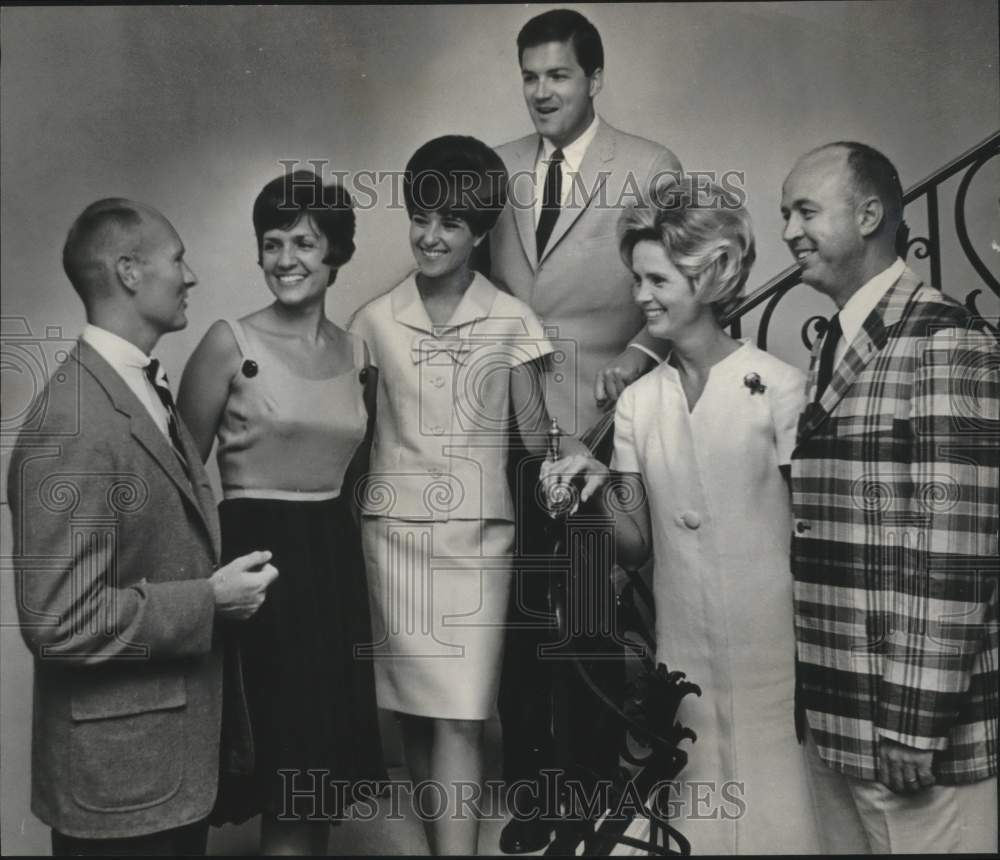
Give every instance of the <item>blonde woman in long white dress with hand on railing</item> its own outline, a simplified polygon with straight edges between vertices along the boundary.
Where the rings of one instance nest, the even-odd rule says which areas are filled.
[[[657,661],[702,689],[678,714],[698,740],[670,823],[692,853],[816,853],[794,726],[785,478],[803,374],[719,323],[754,259],[749,216],[721,188],[654,193],[623,213],[619,237],[649,331],[673,346],[615,415],[611,468],[644,501],[607,506],[620,563],[653,553]],[[579,456],[543,469],[557,484],[582,477],[583,500],[603,497],[609,474]],[[630,835],[645,838],[648,821]]]

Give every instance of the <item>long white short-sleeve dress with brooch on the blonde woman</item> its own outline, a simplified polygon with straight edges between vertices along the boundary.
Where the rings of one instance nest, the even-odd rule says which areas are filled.
[[[640,473],[649,499],[657,660],[702,689],[678,714],[698,740],[685,743],[670,798],[692,853],[818,850],[795,737],[792,518],[779,471],[803,396],[801,371],[744,342],[712,367],[693,410],[666,362],[617,407],[612,465]]]

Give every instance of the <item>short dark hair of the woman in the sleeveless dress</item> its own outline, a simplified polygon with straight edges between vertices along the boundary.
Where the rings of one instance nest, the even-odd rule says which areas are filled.
[[[295,170],[264,186],[253,204],[253,229],[260,262],[264,234],[288,230],[301,218],[311,218],[327,241],[323,262],[334,270],[354,256],[354,201],[336,182],[324,185],[311,170]],[[331,278],[331,283],[333,283]]]

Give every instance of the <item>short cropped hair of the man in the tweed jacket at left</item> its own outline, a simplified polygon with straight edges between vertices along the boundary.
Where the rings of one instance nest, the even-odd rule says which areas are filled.
[[[106,260],[102,255],[112,234],[134,233],[142,224],[142,212],[131,200],[106,197],[91,203],[73,222],[63,245],[63,271],[80,297],[87,300],[103,286],[107,277]]]

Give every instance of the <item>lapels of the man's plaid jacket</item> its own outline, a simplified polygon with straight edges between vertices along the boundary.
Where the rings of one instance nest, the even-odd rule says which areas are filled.
[[[813,345],[812,357],[809,362],[809,376],[806,381],[806,409],[799,421],[799,440],[805,439],[829,417],[837,404],[844,398],[854,385],[859,374],[868,366],[889,340],[890,330],[902,319],[906,306],[913,293],[920,287],[920,279],[909,269],[903,274],[879,300],[875,309],[868,314],[860,331],[847,347],[844,357],[833,370],[830,384],[823,392],[818,404],[814,403],[816,396],[816,377],[818,375],[817,356],[822,338]]]

